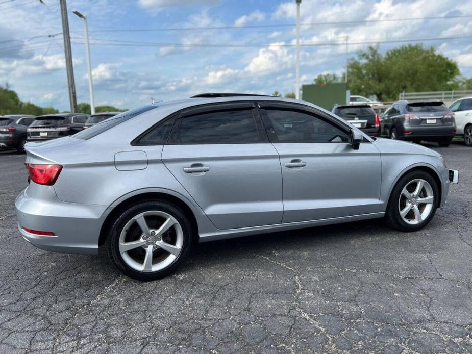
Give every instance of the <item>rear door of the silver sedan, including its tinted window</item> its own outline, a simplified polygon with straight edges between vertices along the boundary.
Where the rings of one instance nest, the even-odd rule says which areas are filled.
[[[182,111],[162,161],[218,229],[281,222],[279,155],[254,103]]]

